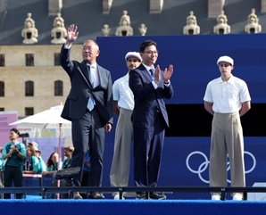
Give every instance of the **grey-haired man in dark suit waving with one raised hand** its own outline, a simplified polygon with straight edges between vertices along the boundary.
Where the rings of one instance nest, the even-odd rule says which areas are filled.
[[[105,132],[112,128],[112,79],[109,70],[96,63],[100,54],[98,45],[87,40],[82,46],[82,62],[71,61],[71,45],[79,32],[78,27],[68,28],[67,41],[62,46],[60,61],[71,79],[71,92],[62,110],[62,118],[72,122],[72,142],[75,151],[71,167],[80,167],[74,184],[80,186],[84,156],[89,146],[91,167],[88,186],[101,186]],[[92,192],[91,199],[103,199],[104,195]],[[82,198],[77,192],[74,198]]]

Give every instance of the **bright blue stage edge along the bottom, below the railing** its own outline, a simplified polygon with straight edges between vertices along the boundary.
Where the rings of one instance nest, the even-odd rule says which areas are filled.
[[[1,214],[263,215],[266,201],[211,200],[0,200]]]

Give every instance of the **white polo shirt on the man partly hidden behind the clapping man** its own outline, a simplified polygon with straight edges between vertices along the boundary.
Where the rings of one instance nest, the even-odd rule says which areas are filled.
[[[112,96],[114,101],[118,101],[118,106],[133,111],[134,95],[129,88],[129,72],[127,75],[114,81],[112,85]]]

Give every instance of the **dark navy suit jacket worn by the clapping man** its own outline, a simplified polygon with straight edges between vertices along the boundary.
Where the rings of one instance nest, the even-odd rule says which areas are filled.
[[[161,71],[161,77],[163,71]],[[158,88],[154,89],[152,77],[145,70],[145,66],[140,66],[129,72],[129,87],[134,94],[135,107],[132,114],[133,127],[151,128],[157,116],[158,106],[166,125],[169,127],[168,114],[166,112],[164,98],[170,99],[173,96],[173,88],[165,87],[163,78],[158,83]]]

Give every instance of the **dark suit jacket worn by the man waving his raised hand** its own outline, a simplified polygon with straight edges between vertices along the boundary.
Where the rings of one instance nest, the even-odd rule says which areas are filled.
[[[71,49],[62,46],[60,62],[71,79],[71,92],[62,110],[62,118],[79,120],[87,112],[87,101],[93,94],[101,120],[112,124],[112,79],[109,70],[97,64],[100,85],[92,88],[86,62],[71,61]]]

